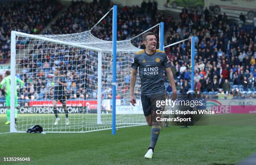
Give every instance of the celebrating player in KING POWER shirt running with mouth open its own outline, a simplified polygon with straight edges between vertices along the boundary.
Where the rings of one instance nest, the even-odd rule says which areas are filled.
[[[148,152],[145,158],[151,159],[154,152],[154,147],[160,133],[160,121],[157,121],[157,117],[161,117],[161,114],[157,114],[156,110],[164,110],[164,106],[157,108],[156,101],[165,100],[165,86],[164,86],[164,69],[169,82],[172,86],[172,99],[177,98],[177,90],[175,87],[174,77],[171,71],[171,64],[169,58],[164,51],[156,50],[156,36],[154,33],[147,32],[143,35],[143,42],[146,49],[137,52],[133,56],[132,60],[132,73],[131,73],[131,97],[130,102],[133,106],[136,104],[136,98],[134,96],[134,86],[137,77],[137,69],[139,67],[139,74],[141,77],[141,103],[143,113],[146,117],[148,126],[151,128],[151,142],[148,148]]]

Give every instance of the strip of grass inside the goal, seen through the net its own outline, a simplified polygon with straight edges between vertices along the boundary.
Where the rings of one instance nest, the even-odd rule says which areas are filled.
[[[65,115],[59,114],[60,121],[54,126],[54,114],[19,114],[16,123],[17,131],[26,132],[29,127],[41,125],[45,132],[88,132],[95,129],[109,129],[112,125],[111,114],[101,114],[102,124],[97,124],[97,114],[69,114],[69,126],[65,124]],[[134,123],[146,124],[143,114],[117,114],[117,127]]]

